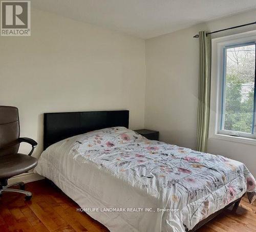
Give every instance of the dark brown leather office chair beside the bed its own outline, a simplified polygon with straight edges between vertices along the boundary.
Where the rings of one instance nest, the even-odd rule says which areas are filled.
[[[31,144],[32,150],[27,154],[18,152],[19,144]],[[37,142],[29,138],[19,138],[19,118],[16,107],[0,106],[0,196],[3,192],[19,192],[29,200],[32,193],[25,191],[25,184],[18,182],[7,185],[7,180],[15,175],[24,173],[37,165],[37,159],[31,157]],[[19,189],[9,187],[19,185]]]

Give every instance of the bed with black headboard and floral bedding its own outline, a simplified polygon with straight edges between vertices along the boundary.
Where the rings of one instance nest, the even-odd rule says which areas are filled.
[[[256,183],[222,156],[148,140],[129,111],[47,113],[34,172],[54,182],[110,231],[195,231]]]

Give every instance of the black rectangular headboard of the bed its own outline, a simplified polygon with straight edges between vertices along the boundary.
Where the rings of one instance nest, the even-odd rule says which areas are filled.
[[[129,111],[44,114],[44,150],[60,140],[112,126],[129,127]]]

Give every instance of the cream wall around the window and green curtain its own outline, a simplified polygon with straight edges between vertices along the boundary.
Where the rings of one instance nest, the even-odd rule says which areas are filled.
[[[196,148],[199,42],[193,36],[255,21],[255,15],[246,12],[146,40],[145,127],[159,130],[160,140]],[[212,37],[255,29],[252,25]],[[208,152],[242,161],[256,176],[256,146],[209,139]]]

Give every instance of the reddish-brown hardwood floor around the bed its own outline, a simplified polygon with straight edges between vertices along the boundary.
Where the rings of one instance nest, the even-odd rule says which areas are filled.
[[[86,213],[76,212],[78,205],[49,182],[28,183],[26,189],[33,192],[30,201],[18,193],[4,193],[0,198],[1,232],[109,231]],[[206,231],[256,232],[255,202],[251,205],[244,197],[236,213],[226,210],[198,230]]]

